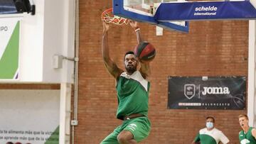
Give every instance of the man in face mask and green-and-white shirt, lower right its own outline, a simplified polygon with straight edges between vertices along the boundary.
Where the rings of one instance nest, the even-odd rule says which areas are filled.
[[[192,144],[226,144],[229,142],[224,133],[214,127],[215,119],[212,116],[206,118],[206,128],[199,131]]]

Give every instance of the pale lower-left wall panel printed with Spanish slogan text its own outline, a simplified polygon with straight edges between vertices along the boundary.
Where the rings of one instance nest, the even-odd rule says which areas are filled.
[[[0,94],[0,143],[43,144],[60,126],[60,90],[0,89]]]

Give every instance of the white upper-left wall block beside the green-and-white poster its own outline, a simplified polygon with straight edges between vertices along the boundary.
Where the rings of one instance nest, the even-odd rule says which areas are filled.
[[[52,63],[56,54],[74,57],[74,0],[33,2],[36,15],[23,14],[21,20],[20,79],[12,82],[73,83],[72,61],[63,60],[60,69]]]

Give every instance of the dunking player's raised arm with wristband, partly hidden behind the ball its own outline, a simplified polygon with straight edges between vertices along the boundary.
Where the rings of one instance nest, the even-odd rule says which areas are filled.
[[[141,43],[143,41],[142,36],[140,35],[140,29],[138,26],[137,21],[130,21],[130,26],[132,26],[132,28],[134,28],[134,31],[136,33],[136,37],[137,37],[137,43]],[[142,77],[144,77],[144,79],[149,79],[151,71],[150,71],[150,67],[149,67],[149,63],[143,63],[140,62],[141,67],[139,69],[139,72],[142,73]]]

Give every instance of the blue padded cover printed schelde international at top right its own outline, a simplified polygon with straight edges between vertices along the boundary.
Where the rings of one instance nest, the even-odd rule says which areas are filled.
[[[162,3],[154,18],[156,21],[256,19],[256,9],[250,1]]]

